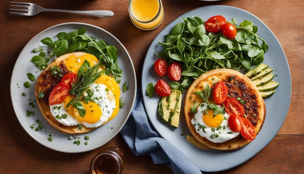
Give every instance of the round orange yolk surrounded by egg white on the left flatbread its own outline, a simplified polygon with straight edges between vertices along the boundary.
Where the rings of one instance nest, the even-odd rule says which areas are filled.
[[[80,121],[80,122],[86,122],[89,124],[93,124],[98,122],[98,120],[101,118],[101,109],[100,107],[91,101],[88,103],[81,102],[85,109],[85,116],[81,117],[78,110],[76,108],[73,108],[74,115],[75,117]]]

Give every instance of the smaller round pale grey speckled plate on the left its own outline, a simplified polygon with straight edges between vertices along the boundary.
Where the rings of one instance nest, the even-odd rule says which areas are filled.
[[[119,110],[118,115],[113,120],[106,123],[104,126],[99,127],[87,134],[79,135],[78,137],[80,138],[77,139],[81,141],[81,144],[79,146],[77,146],[77,144],[73,144],[74,140],[68,140],[68,137],[70,135],[61,133],[52,126],[50,126],[42,116],[37,105],[36,108],[32,108],[29,105],[29,100],[35,100],[34,88],[36,80],[34,82],[31,82],[26,76],[26,73],[32,73],[34,74],[35,79],[37,79],[37,77],[42,72],[41,70],[37,69],[32,62],[29,62],[34,55],[38,54],[33,53],[32,50],[34,48],[37,48],[38,46],[43,46],[43,44],[40,42],[41,39],[45,37],[51,37],[54,41],[57,40],[57,33],[71,32],[78,28],[86,28],[87,35],[95,38],[102,38],[109,45],[114,45],[117,48],[119,66],[123,70],[121,78],[122,83],[120,83],[119,86],[120,88],[122,88],[123,83],[127,81],[127,84],[130,87],[129,90],[125,93],[121,92],[121,97],[125,101],[125,105]],[[50,62],[53,60],[54,58],[51,59]],[[26,81],[31,82],[31,86],[28,89],[23,86],[23,83]],[[25,97],[22,96],[22,92],[25,92],[27,95]],[[90,151],[104,145],[109,140],[111,140],[117,133],[119,133],[119,131],[129,118],[130,112],[132,111],[133,104],[135,101],[135,96],[136,75],[133,67],[133,62],[126,48],[115,36],[113,36],[108,31],[86,23],[61,23],[53,27],[47,28],[46,30],[43,30],[35,37],[33,37],[22,49],[12,72],[11,98],[13,108],[15,110],[19,123],[21,124],[23,129],[29,134],[29,136],[31,136],[38,143],[50,149],[61,152],[78,153]],[[30,118],[27,118],[26,110],[34,111],[35,115]],[[42,121],[44,126],[43,130],[35,131],[35,127],[38,126],[37,124],[34,126],[33,129],[30,128],[30,125],[35,124],[35,121],[37,119]],[[53,137],[53,141],[51,142],[48,141],[49,134],[51,134]],[[86,140],[84,139],[86,135],[90,137],[90,140],[87,140],[88,145],[84,144],[86,142]]]

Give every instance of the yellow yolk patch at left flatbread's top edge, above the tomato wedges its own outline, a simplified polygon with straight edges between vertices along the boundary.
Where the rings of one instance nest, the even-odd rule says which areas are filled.
[[[77,74],[78,69],[81,67],[83,62],[85,62],[85,60],[90,63],[90,66],[94,66],[96,63],[98,63],[98,59],[94,55],[85,54],[77,57],[71,55],[64,59],[64,64],[68,70],[70,70],[72,73]]]

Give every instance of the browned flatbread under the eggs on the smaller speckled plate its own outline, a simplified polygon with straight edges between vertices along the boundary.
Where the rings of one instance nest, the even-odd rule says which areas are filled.
[[[67,133],[67,134],[83,134],[83,133],[88,133],[91,130],[94,130],[96,128],[87,128],[85,126],[82,126],[82,129],[79,130],[78,126],[65,126],[61,123],[59,123],[54,116],[51,114],[50,112],[50,105],[48,102],[48,98],[49,98],[49,94],[52,91],[52,89],[54,88],[54,86],[56,86],[61,78],[55,78],[51,73],[49,68],[51,66],[57,65],[58,68],[61,69],[61,73],[63,75],[65,75],[66,73],[69,73],[69,70],[67,69],[67,67],[65,66],[63,60],[70,57],[71,55],[74,56],[82,56],[88,53],[85,52],[74,52],[74,53],[68,53],[65,55],[62,55],[60,57],[57,57],[54,62],[50,63],[49,66],[47,66],[47,68],[40,74],[40,76],[37,79],[36,82],[36,86],[35,86],[35,95],[36,95],[36,101],[37,101],[37,105],[42,113],[42,115],[44,116],[44,118],[47,120],[47,122],[53,126],[54,128],[56,128],[57,130],[59,130],[60,132],[63,133]],[[44,93],[44,98],[38,98],[38,94],[40,92]]]

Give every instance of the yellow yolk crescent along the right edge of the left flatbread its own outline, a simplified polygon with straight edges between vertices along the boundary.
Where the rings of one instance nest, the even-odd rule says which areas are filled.
[[[119,88],[119,84],[115,81],[114,78],[107,76],[105,74],[102,74],[96,81],[96,84],[104,84],[109,91],[111,91],[113,93],[113,96],[115,98],[115,108],[113,110],[113,113],[111,115],[111,117],[108,119],[108,121],[110,121],[111,119],[113,119],[119,111],[119,98],[120,98],[120,88]],[[110,95],[108,94],[108,97]],[[110,99],[110,98],[109,98]]]

